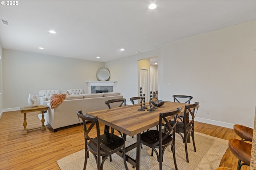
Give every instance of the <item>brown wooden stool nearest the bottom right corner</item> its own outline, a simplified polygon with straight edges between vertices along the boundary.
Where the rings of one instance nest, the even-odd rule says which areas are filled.
[[[250,166],[252,144],[240,141],[239,139],[230,139],[228,141],[228,147],[234,156],[240,160],[238,162],[238,170],[243,165]],[[244,163],[241,164],[241,161]]]

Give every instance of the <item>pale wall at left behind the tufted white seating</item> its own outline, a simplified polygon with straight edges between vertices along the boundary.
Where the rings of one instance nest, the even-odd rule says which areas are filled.
[[[104,68],[102,62],[72,59],[3,50],[3,108],[28,105],[28,95],[38,94],[39,90],[84,89],[86,81],[97,81],[96,72]]]

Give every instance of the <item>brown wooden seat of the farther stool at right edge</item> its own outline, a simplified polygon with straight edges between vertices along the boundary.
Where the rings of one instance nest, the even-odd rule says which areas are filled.
[[[252,142],[253,129],[243,125],[234,125],[234,132],[236,135],[246,141]]]

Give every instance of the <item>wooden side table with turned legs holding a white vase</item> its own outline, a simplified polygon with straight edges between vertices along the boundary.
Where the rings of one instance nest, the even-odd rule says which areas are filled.
[[[44,131],[46,130],[46,127],[44,125],[44,111],[48,109],[48,106],[47,105],[39,105],[39,106],[36,106],[36,107],[30,107],[30,106],[24,106],[24,107],[20,107],[20,113],[24,113],[24,121],[23,121],[23,126],[24,126],[24,129],[22,131],[22,135],[24,134],[27,134],[28,133],[28,130],[32,130],[32,129],[27,129],[26,126],[27,126],[27,121],[26,121],[26,113],[28,112],[34,112],[34,111],[42,111],[42,127],[41,127],[41,131]],[[40,128],[40,127],[38,127]],[[34,129],[38,129],[38,128],[34,128]]]

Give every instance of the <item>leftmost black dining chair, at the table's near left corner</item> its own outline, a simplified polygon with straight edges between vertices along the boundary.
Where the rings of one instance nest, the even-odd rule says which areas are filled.
[[[85,144],[85,158],[84,158],[84,170],[86,169],[87,158],[89,157],[89,151],[94,155],[94,158],[97,162],[97,169],[103,170],[103,164],[108,156],[116,152],[122,152],[122,157],[124,160],[125,169],[128,170],[126,164],[126,153],[125,153],[125,141],[124,139],[111,134],[105,133],[100,135],[100,126],[98,117],[92,117],[83,115],[82,111],[76,111],[78,119],[82,119],[82,123],[80,121],[80,125],[84,130],[84,144]],[[90,121],[92,123],[86,123]],[[88,126],[88,127],[87,127]],[[91,131],[95,131],[96,126],[96,134],[97,137],[92,137],[90,134]],[[95,133],[94,133],[95,134]],[[102,162],[100,160],[100,156],[102,156]]]

